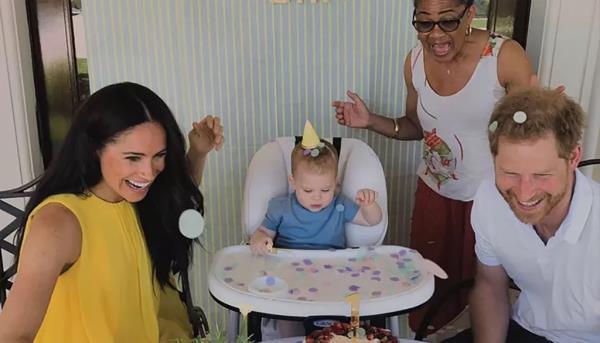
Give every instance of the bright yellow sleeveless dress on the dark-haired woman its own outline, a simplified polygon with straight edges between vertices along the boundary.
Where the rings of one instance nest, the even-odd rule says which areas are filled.
[[[60,194],[31,216],[48,203],[79,220],[81,255],[58,278],[35,342],[158,342],[160,286],[133,205]]]

